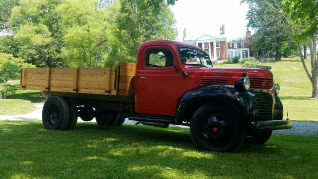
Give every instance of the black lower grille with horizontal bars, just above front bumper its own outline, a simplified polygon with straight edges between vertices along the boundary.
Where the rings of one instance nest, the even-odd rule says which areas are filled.
[[[255,92],[255,100],[257,104],[257,114],[261,120],[272,119],[273,97],[269,93]]]

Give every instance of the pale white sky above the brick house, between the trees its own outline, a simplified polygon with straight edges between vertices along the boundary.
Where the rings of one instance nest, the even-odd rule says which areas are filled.
[[[183,28],[186,28],[187,40],[206,33],[218,35],[223,24],[227,37],[246,33],[248,5],[240,4],[240,0],[178,0],[170,9],[176,19],[178,41],[183,40]]]

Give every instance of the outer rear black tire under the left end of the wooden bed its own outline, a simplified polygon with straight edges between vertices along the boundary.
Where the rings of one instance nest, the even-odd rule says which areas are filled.
[[[69,124],[70,109],[65,99],[50,96],[44,103],[42,122],[46,129],[65,130]]]

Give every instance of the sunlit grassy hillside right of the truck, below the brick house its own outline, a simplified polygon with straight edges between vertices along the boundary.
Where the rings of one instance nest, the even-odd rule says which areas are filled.
[[[306,60],[310,69],[310,60]],[[216,67],[241,67],[240,64],[215,65]],[[271,66],[275,83],[279,83],[281,92],[279,96],[284,105],[284,118],[286,113],[291,120],[318,121],[318,100],[310,99],[312,94],[311,83],[305,73],[299,58],[283,58],[281,61],[264,63]]]

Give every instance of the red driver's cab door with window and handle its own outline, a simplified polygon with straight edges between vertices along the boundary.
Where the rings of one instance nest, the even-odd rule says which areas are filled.
[[[168,46],[143,50],[136,74],[137,113],[174,115],[178,93],[178,73],[173,67],[176,57]]]

